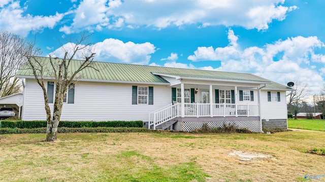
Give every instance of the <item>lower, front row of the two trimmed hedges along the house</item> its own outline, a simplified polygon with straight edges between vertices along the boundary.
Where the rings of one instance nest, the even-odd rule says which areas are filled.
[[[127,133],[127,132],[157,132],[156,130],[148,130],[146,128],[113,128],[113,127],[97,127],[97,128],[66,128],[57,129],[58,133]],[[22,133],[46,133],[45,128],[0,128],[0,134],[22,134]]]

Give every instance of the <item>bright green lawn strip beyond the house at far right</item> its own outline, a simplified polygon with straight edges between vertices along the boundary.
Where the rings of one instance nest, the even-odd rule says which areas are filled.
[[[325,131],[325,120],[288,119],[288,128]]]

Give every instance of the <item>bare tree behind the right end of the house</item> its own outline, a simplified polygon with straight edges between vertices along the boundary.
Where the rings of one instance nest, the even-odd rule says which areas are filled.
[[[293,86],[293,91],[287,94],[288,97],[288,111],[295,115],[295,120],[297,119],[297,114],[301,106],[301,102],[304,101],[308,95],[309,90],[307,89],[307,83],[302,83],[299,80],[295,81],[295,86]]]

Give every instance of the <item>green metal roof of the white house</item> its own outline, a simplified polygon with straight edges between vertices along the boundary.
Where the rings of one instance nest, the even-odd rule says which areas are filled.
[[[52,77],[53,69],[51,69],[49,57],[36,57],[39,62],[43,64],[46,71],[44,77]],[[60,62],[62,59],[57,59]],[[82,60],[73,60],[70,66],[70,72],[74,72]],[[210,71],[199,69],[184,69],[184,68],[172,68],[172,67],[160,67],[160,66],[146,66],[135,64],[121,64],[121,63],[109,63],[94,61],[92,67],[83,69],[76,78],[86,80],[103,80],[103,81],[126,81],[126,82],[143,82],[143,83],[168,83],[165,79],[153,75],[173,75],[182,78],[194,77],[194,78],[208,78],[208,79],[224,79],[224,80],[238,80],[238,81],[252,81],[252,82],[269,82],[271,81],[252,75],[242,74],[237,72],[222,72],[222,71]],[[97,69],[97,70],[96,70]],[[30,65],[26,62],[23,67],[17,72],[17,77],[34,76]],[[273,85],[273,82],[272,82]],[[282,87],[281,87],[282,86]],[[276,84],[276,87],[286,88],[283,85]]]

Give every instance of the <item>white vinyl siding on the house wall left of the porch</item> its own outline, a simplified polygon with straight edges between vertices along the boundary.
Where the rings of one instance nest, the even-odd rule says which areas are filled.
[[[154,104],[132,104],[133,84],[81,82],[75,86],[74,104],[64,104],[61,121],[148,121],[150,112],[171,103],[167,86],[155,85]],[[140,86],[140,85],[138,85]],[[141,85],[149,87],[150,85]],[[26,79],[23,120],[46,120],[44,96],[34,79]],[[53,103],[50,104],[53,112]]]

